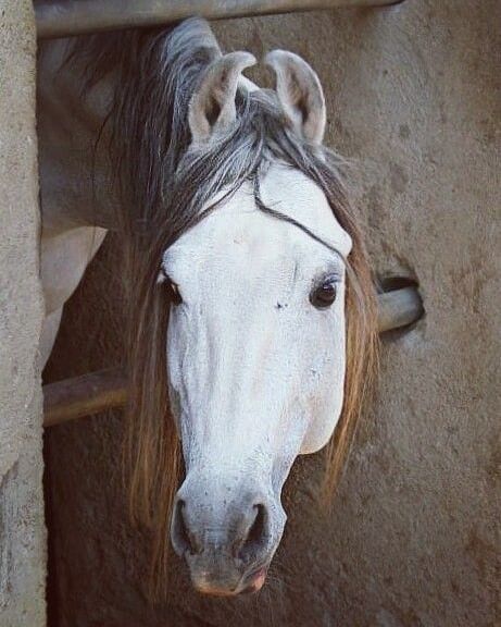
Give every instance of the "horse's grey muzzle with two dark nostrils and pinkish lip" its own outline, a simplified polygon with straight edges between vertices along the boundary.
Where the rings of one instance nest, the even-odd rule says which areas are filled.
[[[184,484],[174,506],[172,544],[185,558],[198,591],[220,597],[255,592],[265,581],[285,515],[279,516],[277,533],[277,507],[262,494],[225,493],[217,497],[214,491],[191,491]]]

